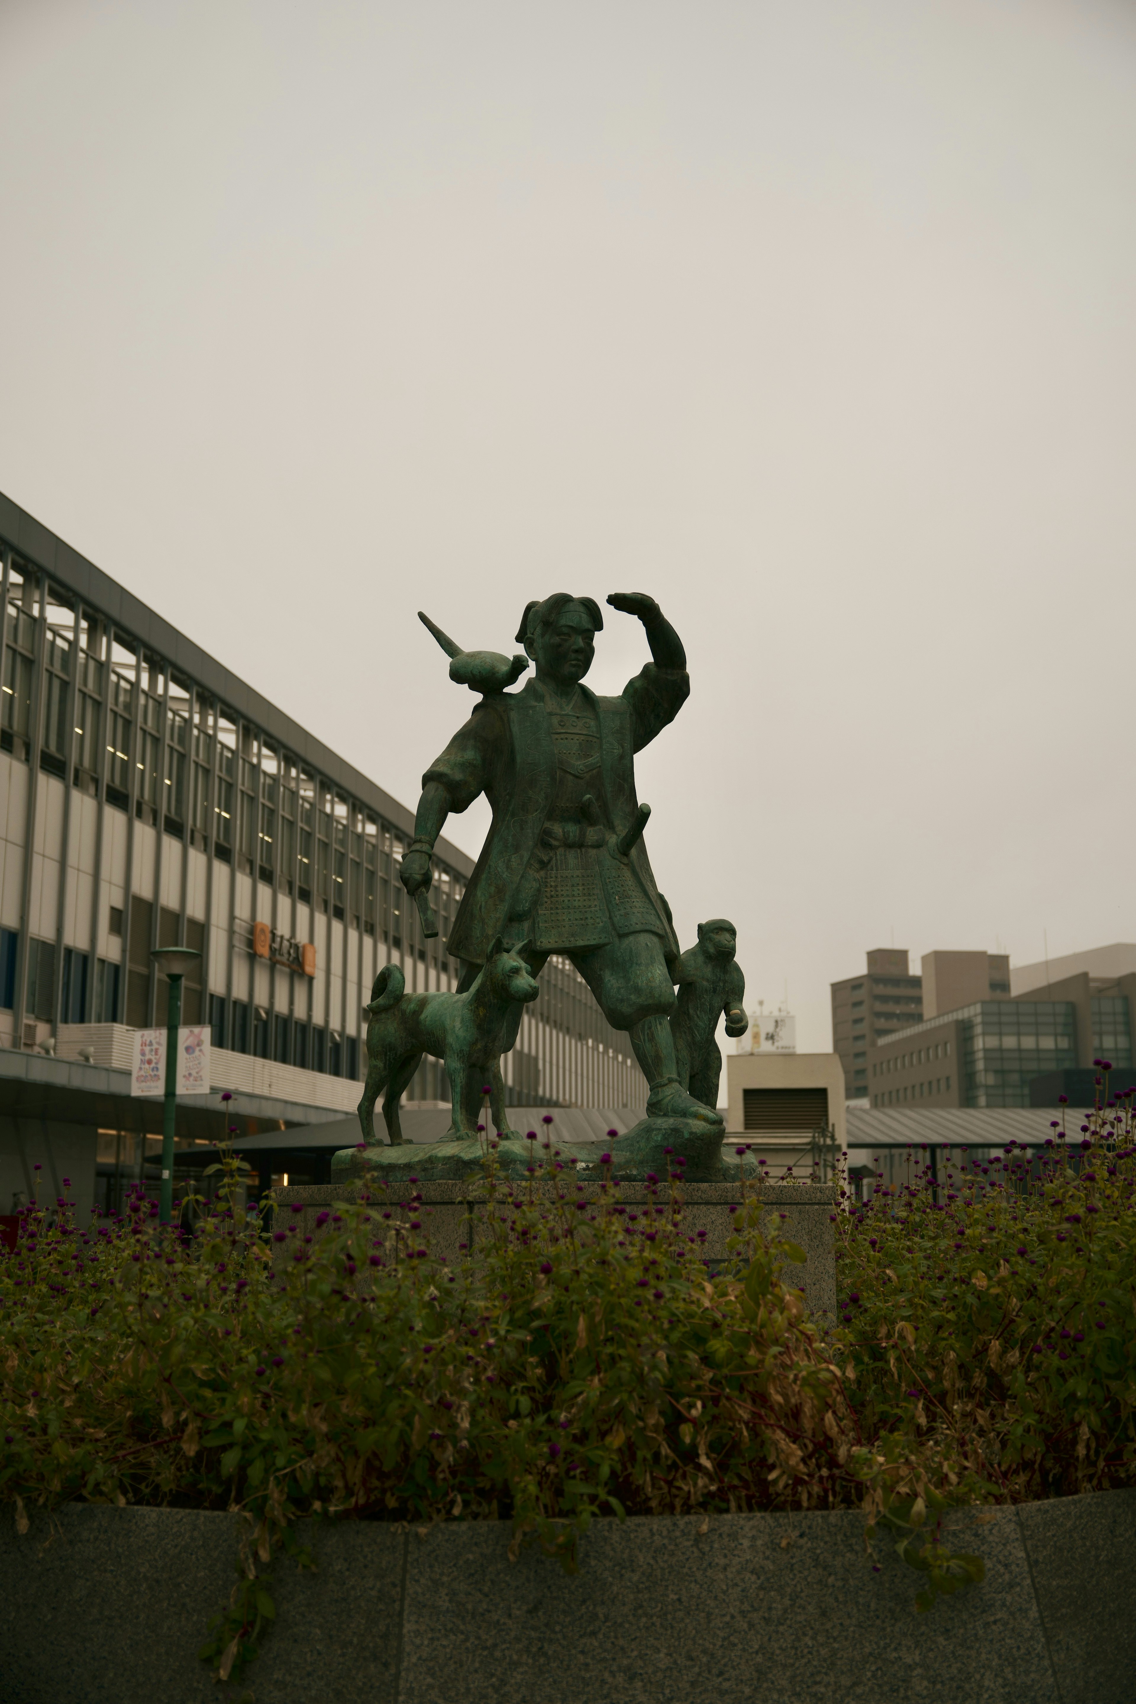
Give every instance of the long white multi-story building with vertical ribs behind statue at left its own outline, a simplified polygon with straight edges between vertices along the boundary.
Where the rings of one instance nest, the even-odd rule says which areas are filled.
[[[148,1102],[83,1111],[82,1067],[121,1075],[129,1029],[165,1021],[150,953],[177,944],[201,954],[182,1022],[209,1026],[218,1089],[281,1128],[296,1108],[349,1111],[378,968],[453,987],[472,861],[438,842],[426,939],[399,883],[410,809],[2,496],[0,567],[0,1080],[27,1077],[5,1056],[55,1053],[75,1062],[72,1123],[111,1142],[145,1135],[146,1109],[160,1130]],[[567,961],[545,968],[504,1072],[514,1106],[645,1101]],[[56,1118],[61,1094],[41,1091],[34,1116]],[[407,1101],[446,1096],[424,1060]],[[10,1123],[0,1109],[0,1147]]]

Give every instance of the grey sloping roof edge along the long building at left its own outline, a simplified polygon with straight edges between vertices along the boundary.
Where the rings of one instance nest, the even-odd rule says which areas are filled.
[[[196,646],[192,639],[172,627],[162,615],[136,598],[118,579],[111,579],[100,567],[89,562],[85,556],[73,550],[70,544],[58,538],[48,527],[22,509],[19,503],[0,492],[0,535],[15,545],[36,567],[44,569],[51,579],[65,586],[75,596],[90,603],[100,615],[109,617],[124,634],[138,639],[145,648],[157,651],[172,668],[192,676],[192,680],[213,694],[225,709],[235,711],[247,721],[255,722],[269,738],[284,746],[293,757],[327,780],[353,794],[359,804],[368,806],[383,816],[402,833],[414,833],[414,811],[392,799],[376,782],[370,780],[358,769],[341,758],[322,740],[310,734],[291,716],[279,711],[267,699],[262,699],[247,682],[232,670],[218,663],[216,658]],[[436,854],[463,879],[473,874],[473,859],[455,847],[450,840],[439,838]]]

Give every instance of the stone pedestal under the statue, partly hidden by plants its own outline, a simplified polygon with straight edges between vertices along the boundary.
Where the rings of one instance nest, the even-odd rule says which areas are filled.
[[[305,1234],[312,1232],[318,1235],[315,1217],[320,1208],[332,1206],[336,1201],[356,1201],[364,1188],[364,1184],[358,1183],[298,1184],[295,1189],[278,1189],[276,1195],[281,1206],[301,1201],[305,1212],[296,1215],[296,1218],[301,1220]],[[405,1189],[405,1184],[395,1188],[392,1200],[399,1201]],[[550,1184],[533,1184],[533,1189],[538,1196],[552,1200]],[[445,1179],[427,1183],[422,1177],[417,1191],[422,1196],[431,1249],[436,1254],[445,1254],[448,1261],[460,1261],[470,1258],[470,1254],[475,1256],[479,1242],[484,1244],[489,1234],[484,1223],[484,1188],[479,1183]],[[584,1184],[582,1191],[577,1191],[576,1183],[571,1181],[567,1193],[572,1196],[582,1193],[588,1201],[596,1201],[601,1191],[600,1184],[594,1183]],[[707,1259],[724,1259],[726,1239],[732,1230],[729,1208],[739,1198],[737,1184],[691,1183],[685,1186],[683,1195],[686,1201],[683,1213],[685,1229],[695,1234],[705,1230]],[[645,1184],[620,1184],[620,1201],[630,1206],[632,1212],[642,1210],[647,1200]],[[657,1200],[663,1198],[659,1196]],[[799,1242],[807,1256],[804,1266],[785,1268],[785,1283],[804,1290],[811,1314],[835,1314],[836,1263],[831,1215],[836,1212],[836,1188],[833,1184],[807,1183],[766,1184],[763,1201],[766,1206],[765,1225],[778,1229],[783,1235]],[[782,1213],[785,1215],[783,1218],[780,1217]],[[291,1213],[284,1217],[291,1222]]]

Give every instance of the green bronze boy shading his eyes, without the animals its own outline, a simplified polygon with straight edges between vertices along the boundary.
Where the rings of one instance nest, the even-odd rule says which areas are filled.
[[[652,661],[618,699],[598,699],[581,682],[600,607],[564,591],[530,603],[516,637],[536,675],[519,692],[485,697],[426,770],[402,886],[414,895],[429,884],[446,816],[484,792],[492,825],[446,942],[462,961],[458,987],[473,982],[496,935],[528,942],[533,975],[550,953],[564,954],[613,1029],[628,1033],[649,1084],[647,1116],[719,1125],[680,1082],[668,968],[678,941],[642,838],[627,845],[642,825],[632,758],[686,700],[686,653],[654,598],[615,593],[608,603],[639,617]],[[506,1051],[514,1039],[516,1029]]]

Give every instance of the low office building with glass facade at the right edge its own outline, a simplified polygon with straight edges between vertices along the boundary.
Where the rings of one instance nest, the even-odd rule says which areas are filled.
[[[1121,951],[1100,949],[1102,954]],[[1049,968],[1053,971],[1053,963]],[[1136,970],[1117,976],[1080,970],[1034,983],[1010,999],[938,1010],[869,1050],[872,1106],[913,1101],[928,1108],[1037,1104],[1034,1092],[1042,1091],[1030,1087],[1037,1079],[1049,1079],[1053,1087],[1058,1074],[1092,1074],[1095,1058],[1107,1058],[1117,1068],[1131,1067],[1136,1060],[1134,1014]],[[1087,1079],[1073,1080],[1083,1084]]]

